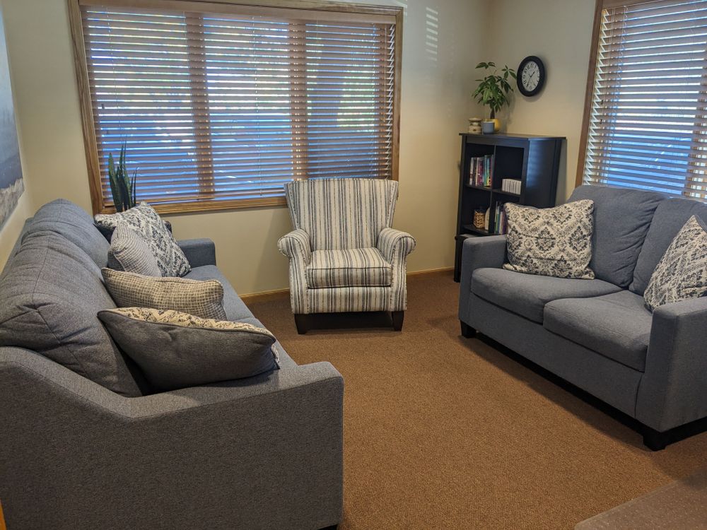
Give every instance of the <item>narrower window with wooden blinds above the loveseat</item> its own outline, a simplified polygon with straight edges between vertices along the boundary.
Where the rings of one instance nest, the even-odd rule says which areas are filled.
[[[578,183],[707,200],[707,1],[600,0]]]

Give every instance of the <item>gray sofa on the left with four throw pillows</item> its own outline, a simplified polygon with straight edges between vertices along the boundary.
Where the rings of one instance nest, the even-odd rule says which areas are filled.
[[[30,244],[34,254],[22,251]],[[180,246],[192,265],[187,278],[218,279],[228,318],[259,324],[216,268],[213,242]],[[33,289],[49,305],[76,307],[59,323],[71,340],[90,333],[110,341],[95,318],[98,309],[115,307],[100,292],[106,253],[85,211],[69,201],[47,204],[25,224],[0,276],[1,305]],[[27,261],[35,255],[40,259]],[[23,284],[28,278],[32,285]],[[64,290],[54,292],[52,278]],[[7,324],[0,322],[6,331]],[[1,347],[0,500],[8,528],[336,525],[343,381],[329,363],[298,366],[281,345],[279,352],[281,370],[271,373],[126,397],[44,355]]]

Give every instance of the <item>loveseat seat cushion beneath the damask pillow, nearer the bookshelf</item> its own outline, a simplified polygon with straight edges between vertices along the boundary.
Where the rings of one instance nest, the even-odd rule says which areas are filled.
[[[545,304],[561,298],[589,298],[621,290],[602,280],[578,280],[524,274],[506,269],[477,269],[472,293],[521,317],[542,324]]]

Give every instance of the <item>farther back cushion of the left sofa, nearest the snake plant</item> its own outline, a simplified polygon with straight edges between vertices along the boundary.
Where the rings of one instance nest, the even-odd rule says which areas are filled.
[[[26,235],[54,232],[86,252],[93,263],[105,267],[110,244],[93,224],[93,217],[71,201],[57,199],[42,206],[28,225]]]

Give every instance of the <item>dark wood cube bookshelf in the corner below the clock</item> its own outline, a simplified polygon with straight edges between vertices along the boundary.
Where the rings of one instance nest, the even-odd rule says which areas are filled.
[[[532,134],[461,133],[462,155],[459,172],[459,207],[455,234],[454,279],[459,281],[462,246],[467,237],[496,235],[493,212],[496,203],[514,202],[536,208],[555,206],[557,175],[564,138]],[[471,160],[493,155],[491,187],[469,182]],[[520,194],[501,191],[503,179],[520,180]],[[474,210],[490,208],[489,230],[474,226]]]

